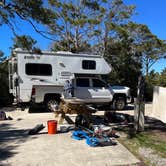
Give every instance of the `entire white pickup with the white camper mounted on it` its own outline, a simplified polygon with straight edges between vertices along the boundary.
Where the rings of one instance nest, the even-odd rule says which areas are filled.
[[[123,109],[130,98],[128,87],[107,85],[101,75],[111,66],[99,55],[71,52],[36,54],[14,50],[9,59],[9,91],[18,103],[44,103],[49,109],[60,102],[66,80],[70,80],[73,96],[87,104],[113,104]]]

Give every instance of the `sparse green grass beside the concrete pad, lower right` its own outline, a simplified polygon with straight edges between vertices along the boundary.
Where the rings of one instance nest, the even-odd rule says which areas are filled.
[[[150,165],[150,161],[139,154],[139,148],[150,148],[153,152],[163,158],[166,158],[166,138],[160,138],[160,133],[142,132],[133,138],[119,138],[119,141],[128,148],[134,155],[142,160],[146,165]]]

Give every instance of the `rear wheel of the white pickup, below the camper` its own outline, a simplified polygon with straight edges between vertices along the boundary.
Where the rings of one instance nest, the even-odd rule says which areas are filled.
[[[59,101],[56,99],[48,99],[45,102],[45,107],[47,111],[56,111],[59,108]]]

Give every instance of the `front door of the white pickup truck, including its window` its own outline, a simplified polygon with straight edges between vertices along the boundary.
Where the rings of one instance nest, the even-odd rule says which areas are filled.
[[[92,98],[97,102],[110,102],[112,100],[112,94],[109,86],[99,79],[92,79],[92,88],[90,90]]]

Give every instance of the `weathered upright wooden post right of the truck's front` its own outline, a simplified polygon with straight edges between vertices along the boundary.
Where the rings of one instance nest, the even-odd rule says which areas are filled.
[[[138,91],[134,109],[134,128],[137,132],[144,130],[144,85],[144,79],[141,76],[138,80]]]

